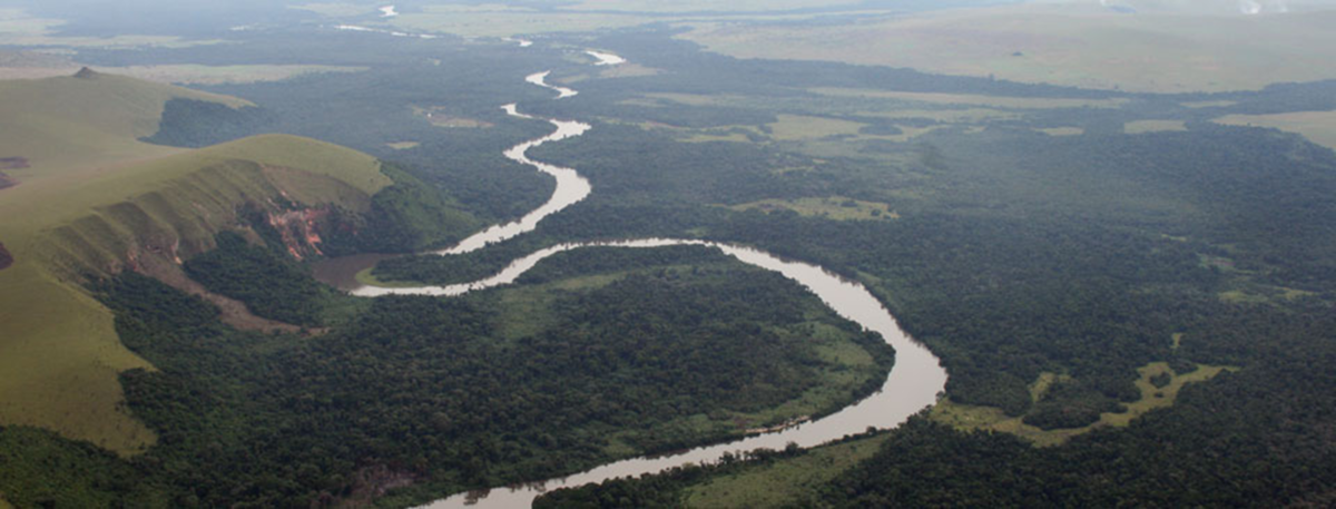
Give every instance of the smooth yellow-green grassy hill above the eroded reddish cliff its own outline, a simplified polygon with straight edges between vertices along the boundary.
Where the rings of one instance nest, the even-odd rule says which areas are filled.
[[[235,223],[244,202],[366,210],[390,184],[361,152],[297,136],[196,151],[140,143],[174,98],[246,103],[128,77],[0,81],[0,425],[35,425],[134,453],[154,436],[118,409],[118,373],[148,367],[122,346],[112,315],[72,283],[139,257],[188,255]]]

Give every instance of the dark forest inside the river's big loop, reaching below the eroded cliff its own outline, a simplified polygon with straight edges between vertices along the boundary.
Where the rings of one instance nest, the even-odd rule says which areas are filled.
[[[236,235],[219,244],[200,258],[227,261],[215,273],[234,287],[274,289],[303,305],[278,309],[298,318],[321,307],[291,262]],[[696,263],[676,269],[675,254]],[[5,457],[49,460],[0,466],[0,489],[21,506],[322,506],[411,481],[418,494],[402,504],[735,437],[745,415],[850,369],[819,355],[823,342],[876,361],[855,367],[863,383],[826,411],[879,387],[892,362],[879,338],[795,283],[721,254],[587,255],[549,261],[532,281],[601,283],[526,289],[518,303],[506,291],[381,298],[315,338],[231,330],[211,305],[127,273],[99,291],[127,346],[158,367],[122,377],[158,445],[124,461],[7,429]],[[212,270],[196,261],[192,271]],[[530,331],[506,333],[520,315]],[[814,342],[815,329],[826,339]],[[717,422],[687,425],[691,415]],[[63,465],[90,473],[84,489],[61,488]]]

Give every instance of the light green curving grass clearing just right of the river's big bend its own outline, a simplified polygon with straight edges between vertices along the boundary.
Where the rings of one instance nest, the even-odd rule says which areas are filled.
[[[1232,370],[1234,370],[1234,367],[1198,365],[1197,370],[1192,373],[1176,374],[1166,362],[1152,362],[1137,370],[1141,374],[1141,378],[1136,382],[1137,389],[1141,390],[1141,399],[1125,403],[1126,411],[1104,413],[1100,415],[1098,422],[1085,428],[1042,430],[1021,422],[1021,417],[1006,415],[1001,409],[961,405],[951,402],[950,399],[945,399],[934,406],[931,418],[958,429],[1011,433],[1026,438],[1035,445],[1058,445],[1066,442],[1071,437],[1089,433],[1097,428],[1126,426],[1132,422],[1132,419],[1144,415],[1146,411],[1172,406],[1174,399],[1178,398],[1178,391],[1182,390],[1185,385],[1205,382],[1222,371]],[[1161,374],[1170,375],[1170,381],[1164,387],[1156,387],[1150,379]],[[1047,386],[1057,381],[1058,377],[1059,375],[1051,373],[1041,375],[1039,379],[1037,379],[1030,387],[1031,398],[1038,401],[1043,395]]]

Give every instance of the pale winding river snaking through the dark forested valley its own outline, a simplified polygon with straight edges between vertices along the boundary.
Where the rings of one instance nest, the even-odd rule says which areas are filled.
[[[600,64],[605,61],[625,61],[616,55],[608,55],[612,59],[600,57]],[[570,98],[577,94],[569,88],[548,84],[546,76],[548,72],[540,72],[529,75],[525,80],[556,91],[558,94],[557,99]],[[512,116],[534,119],[533,116],[520,114],[516,104],[506,104],[504,108]],[[505,155],[512,160],[533,166],[538,171],[554,176],[557,179],[557,190],[553,192],[553,196],[542,207],[529,212],[520,220],[488,228],[477,235],[469,236],[460,244],[438,251],[437,254],[452,255],[469,252],[482,248],[490,243],[501,242],[526,231],[532,231],[545,216],[556,214],[589,195],[592,191],[589,182],[580,176],[580,174],[573,168],[536,162],[529,159],[525,154],[529,148],[537,147],[542,143],[578,136],[591,127],[588,124],[570,120],[545,120],[556,126],[556,131],[548,136],[514,146],[508,150]],[[803,285],[840,317],[859,323],[867,330],[880,334],[882,338],[895,349],[895,366],[891,369],[890,375],[882,385],[880,391],[824,418],[774,433],[756,434],[733,442],[696,448],[677,454],[617,461],[562,478],[497,488],[485,493],[461,493],[429,504],[426,505],[428,508],[526,508],[537,496],[550,489],[580,486],[617,477],[656,473],[689,462],[717,461],[725,453],[737,454],[762,448],[783,449],[790,442],[803,448],[811,448],[839,440],[848,434],[863,433],[868,428],[895,428],[904,422],[904,419],[910,415],[934,405],[937,402],[938,393],[946,387],[947,374],[946,370],[942,369],[938,358],[900,330],[895,318],[863,285],[843,279],[839,275],[810,263],[784,261],[752,247],[729,243],[697,239],[628,239],[613,242],[565,243],[516,259],[500,273],[472,283],[424,287],[375,287],[351,285],[343,286],[343,289],[353,295],[359,297],[462,295],[470,291],[510,285],[520,275],[533,269],[538,262],[564,251],[573,251],[585,247],[653,248],[665,246],[703,246],[717,248],[743,263],[783,274],[784,277]],[[335,278],[326,278],[326,281],[331,283],[342,282],[346,285],[350,281],[346,278],[347,273],[369,267],[378,259],[383,259],[383,257],[359,258],[354,261],[351,266],[345,265],[341,270],[338,270],[343,273],[345,278],[341,281]]]

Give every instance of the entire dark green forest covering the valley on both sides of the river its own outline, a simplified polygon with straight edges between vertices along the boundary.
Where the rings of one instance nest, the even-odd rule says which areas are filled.
[[[931,414],[848,437],[878,452],[795,506],[1336,504],[1336,152],[1293,134],[1209,122],[1329,110],[1332,83],[1158,96],[733,60],[667,29],[549,40],[616,48],[663,71],[601,79],[549,44],[441,51],[460,43],[314,29],[250,37],[84,56],[224,64],[327,55],[322,63],[371,67],[207,87],[259,107],[170,103],[162,132],[148,139],[196,146],[291,132],[391,162],[395,184],[373,198],[370,214],[333,219],[362,234],[334,228],[331,255],[445,247],[542,203],[550,180],[501,152],[549,126],[508,118],[501,104],[595,126],[529,154],[589,178],[587,200],[480,251],[382,262],[374,271],[382,281],[474,281],[576,240],[756,246],[864,283],[941,357],[950,373],[945,402],[997,409],[1038,430],[1082,430],[1133,403],[1142,395],[1137,369],[1149,363],[1176,374],[1230,367],[1182,389],[1173,406],[1050,446]],[[581,95],[553,102],[522,83],[548,68]],[[820,87],[1122,103],[991,104],[982,119],[951,120],[979,107],[814,92]],[[1202,100],[1229,104],[1182,106]],[[436,127],[414,107],[490,127]],[[782,116],[862,127],[784,139]],[[1136,120],[1182,130],[1128,132]],[[1078,134],[1041,131],[1051,128]],[[892,138],[918,130],[930,131]],[[741,136],[708,138],[720,134]],[[387,146],[399,142],[420,144]],[[887,212],[846,220],[803,208],[804,199]],[[878,338],[796,285],[708,250],[581,250],[553,257],[514,287],[359,301],[265,244],[262,224],[246,226],[262,242],[224,232],[218,250],[186,262],[187,273],[267,318],[333,327],[314,337],[243,333],[156,281],[102,282],[94,291],[115,311],[123,342],[158,367],[122,379],[127,409],[159,441],[126,460],[41,430],[0,429],[8,502],[405,506],[736,437],[737,418],[762,419],[840,369],[814,349],[818,330],[872,359],[859,367],[862,383],[823,410],[875,390],[894,362]],[[1057,382],[1037,397],[1045,375]],[[693,415],[711,425],[693,425]],[[820,449],[731,457],[553,492],[538,506],[688,505],[704,484],[812,454]]]

